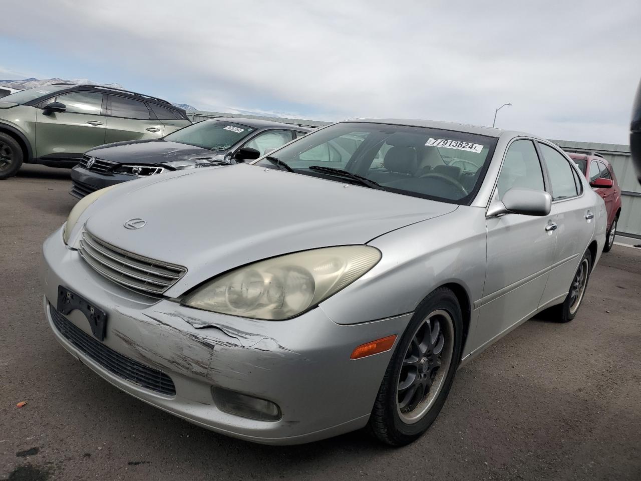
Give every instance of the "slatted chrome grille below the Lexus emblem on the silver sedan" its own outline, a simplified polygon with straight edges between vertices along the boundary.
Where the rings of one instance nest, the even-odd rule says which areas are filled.
[[[124,251],[85,230],[80,255],[99,274],[133,291],[159,297],[187,272],[185,267]]]

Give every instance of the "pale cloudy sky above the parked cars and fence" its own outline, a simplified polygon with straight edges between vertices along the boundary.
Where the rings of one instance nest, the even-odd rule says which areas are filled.
[[[641,78],[638,0],[24,0],[3,17],[0,79],[201,110],[491,125],[511,102],[498,127],[626,144]]]

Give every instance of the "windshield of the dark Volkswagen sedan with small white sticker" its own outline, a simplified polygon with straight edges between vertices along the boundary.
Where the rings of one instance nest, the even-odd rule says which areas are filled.
[[[226,150],[253,132],[253,127],[227,121],[202,121],[164,137],[171,142],[211,150]]]

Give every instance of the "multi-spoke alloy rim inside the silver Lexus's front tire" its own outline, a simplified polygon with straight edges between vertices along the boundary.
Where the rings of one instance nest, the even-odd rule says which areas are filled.
[[[404,423],[420,421],[445,384],[454,350],[454,325],[445,310],[431,312],[412,336],[397,385],[397,412]]]

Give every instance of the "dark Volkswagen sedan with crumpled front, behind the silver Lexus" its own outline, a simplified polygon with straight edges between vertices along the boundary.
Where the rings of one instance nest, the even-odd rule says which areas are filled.
[[[115,142],[87,151],[71,171],[71,195],[167,171],[254,160],[311,129],[257,119],[221,118],[153,140]]]

